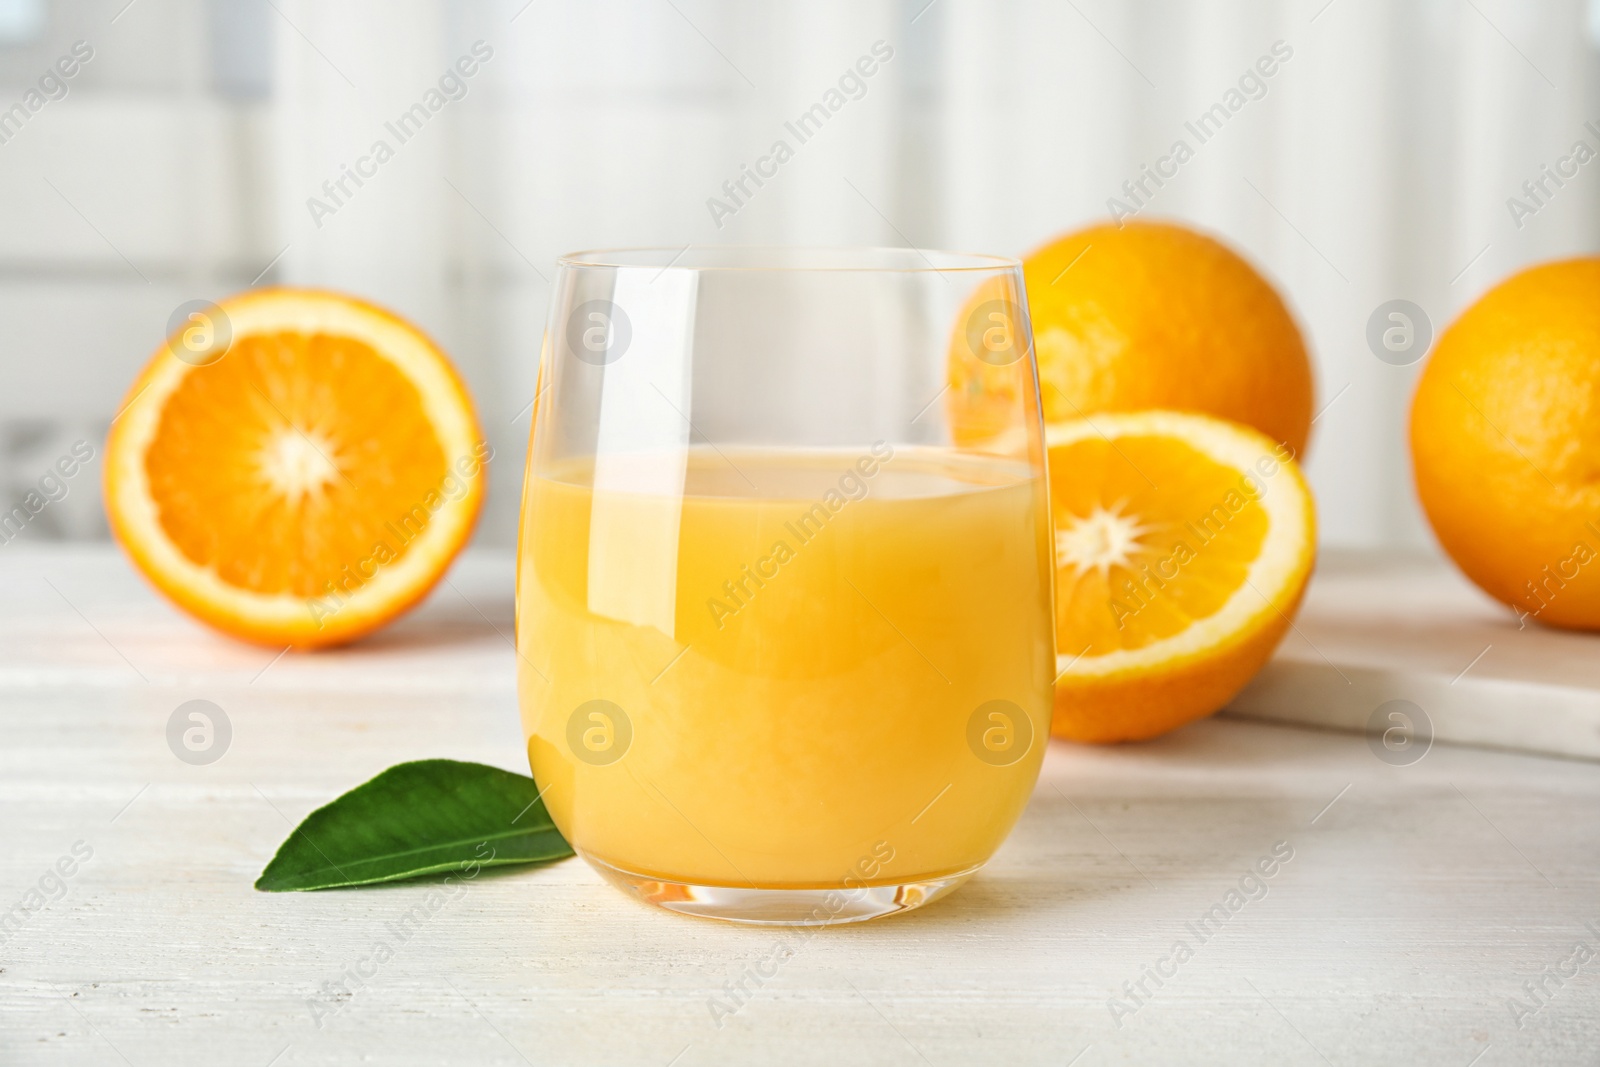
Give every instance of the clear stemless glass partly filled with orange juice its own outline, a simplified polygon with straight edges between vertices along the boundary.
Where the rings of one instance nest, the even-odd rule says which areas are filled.
[[[611,883],[784,925],[954,889],[1038,776],[1051,582],[1014,259],[560,261],[518,697],[544,801]]]

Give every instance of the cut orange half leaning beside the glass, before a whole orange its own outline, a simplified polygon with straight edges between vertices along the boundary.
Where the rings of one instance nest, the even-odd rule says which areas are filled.
[[[1045,442],[1054,733],[1136,741],[1227,704],[1288,630],[1315,560],[1288,448],[1176,411],[1054,424]]]

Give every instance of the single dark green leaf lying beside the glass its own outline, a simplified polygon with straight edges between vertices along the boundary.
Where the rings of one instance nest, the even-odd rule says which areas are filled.
[[[306,816],[258,889],[331,889],[477,867],[566,859],[531,777],[483,763],[416,760]]]

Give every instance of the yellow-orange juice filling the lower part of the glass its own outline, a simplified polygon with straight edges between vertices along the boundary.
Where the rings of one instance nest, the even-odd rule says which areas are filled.
[[[989,859],[1050,736],[1048,518],[1024,464],[878,443],[542,469],[518,689],[574,848],[797,889]]]

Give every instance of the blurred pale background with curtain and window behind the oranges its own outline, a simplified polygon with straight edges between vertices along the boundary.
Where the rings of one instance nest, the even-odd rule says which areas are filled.
[[[1184,123],[1278,42],[1198,142]],[[99,453],[179,304],[325,285],[454,357],[496,451],[478,542],[510,545],[560,253],[1021,256],[1106,221],[1182,138],[1141,218],[1222,237],[1298,315],[1325,544],[1427,545],[1419,365],[1379,360],[1368,320],[1408,299],[1437,334],[1507,272],[1595,250],[1600,165],[1560,160],[1600,150],[1597,51],[1587,0],[0,0],[0,498],[75,440]],[[91,469],[22,536],[104,537]]]

